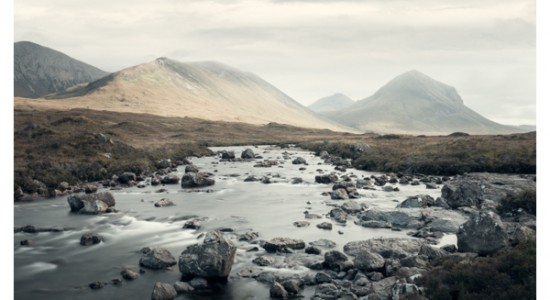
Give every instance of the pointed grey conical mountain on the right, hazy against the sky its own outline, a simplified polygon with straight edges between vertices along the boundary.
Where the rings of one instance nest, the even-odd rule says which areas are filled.
[[[325,115],[350,127],[378,133],[523,132],[486,119],[465,106],[454,87],[415,70],[397,76],[374,95]]]

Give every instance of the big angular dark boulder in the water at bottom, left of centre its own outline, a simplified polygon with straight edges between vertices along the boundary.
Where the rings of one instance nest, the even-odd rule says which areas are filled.
[[[185,249],[178,261],[183,278],[202,277],[207,280],[226,281],[237,247],[219,231],[206,234],[202,244]]]

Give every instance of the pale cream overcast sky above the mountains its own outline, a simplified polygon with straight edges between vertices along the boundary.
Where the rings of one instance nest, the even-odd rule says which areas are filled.
[[[536,123],[535,0],[15,0],[23,40],[105,71],[218,61],[306,106],[415,69],[491,120]]]

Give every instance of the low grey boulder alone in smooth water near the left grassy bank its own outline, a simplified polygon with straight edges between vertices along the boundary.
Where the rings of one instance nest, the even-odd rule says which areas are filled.
[[[106,212],[109,207],[116,204],[113,194],[109,192],[71,195],[67,197],[67,202],[72,212],[95,215]]]

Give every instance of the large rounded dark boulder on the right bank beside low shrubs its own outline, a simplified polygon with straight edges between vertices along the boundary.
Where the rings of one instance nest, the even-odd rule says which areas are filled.
[[[460,252],[479,255],[494,254],[508,245],[508,234],[500,217],[491,211],[482,211],[458,229],[457,245]]]

